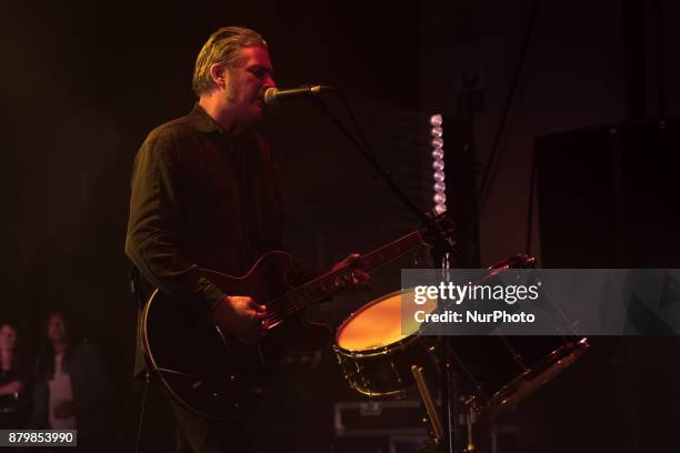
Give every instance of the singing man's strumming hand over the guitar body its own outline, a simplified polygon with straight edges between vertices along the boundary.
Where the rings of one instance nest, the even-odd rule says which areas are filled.
[[[226,295],[212,316],[226,334],[232,333],[242,343],[252,344],[264,332],[267,306],[247,295]]]

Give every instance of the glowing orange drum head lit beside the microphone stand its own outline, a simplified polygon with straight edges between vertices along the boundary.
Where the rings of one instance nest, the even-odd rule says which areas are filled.
[[[394,291],[352,313],[338,329],[336,344],[346,351],[389,348],[418,332],[420,324],[413,319],[416,310],[431,313],[436,309],[437,299],[428,299],[423,305],[417,305],[412,289]],[[408,316],[403,325],[402,314]]]

